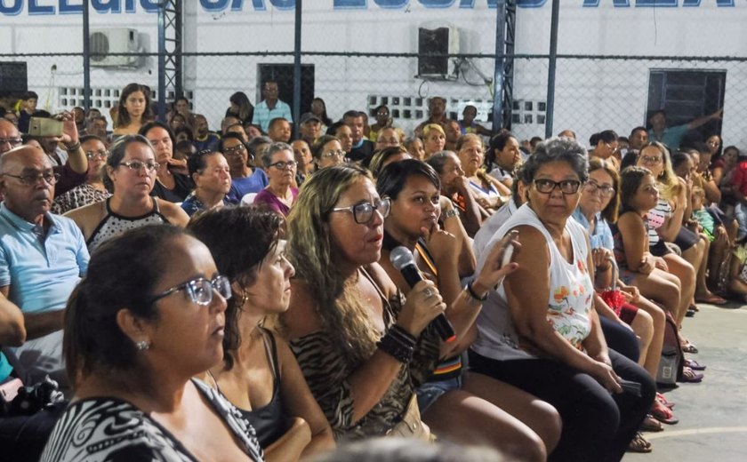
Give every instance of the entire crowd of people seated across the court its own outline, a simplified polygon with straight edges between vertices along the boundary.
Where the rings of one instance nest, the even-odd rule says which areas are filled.
[[[262,94],[233,94],[220,132],[183,98],[153,120],[141,84],[111,134],[76,108],[28,135],[51,117],[34,93],[0,118],[0,381],[49,375],[70,400],[36,458],[398,436],[617,461],[678,422],[661,391],[705,369],[685,318],[747,300],[747,159],[688,136],[720,111],[587,149],[491,133],[472,106],[449,120],[438,97],[411,138],[386,106],[368,126],[316,98],[292,139]]]

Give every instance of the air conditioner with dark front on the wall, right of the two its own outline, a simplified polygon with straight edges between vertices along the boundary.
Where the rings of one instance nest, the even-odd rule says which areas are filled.
[[[418,28],[418,77],[446,78],[454,75],[454,58],[459,53],[459,29]]]

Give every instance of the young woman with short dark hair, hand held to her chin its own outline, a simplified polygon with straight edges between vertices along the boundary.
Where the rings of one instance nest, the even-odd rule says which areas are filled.
[[[440,181],[427,163],[390,164],[379,175],[376,189],[391,201],[380,264],[400,291],[408,291],[409,284],[390,255],[400,245],[411,251],[419,271],[443,294],[446,317],[456,334],[455,341],[441,347],[440,361],[417,390],[423,421],[439,438],[488,445],[515,460],[546,460],[560,434],[557,411],[514,386],[462,369],[462,353],[475,337],[484,294],[515,265],[502,267],[504,250],[497,245],[483,270],[462,286],[459,261],[469,238],[453,211],[440,216]],[[471,248],[467,252],[472,275],[474,256]]]

